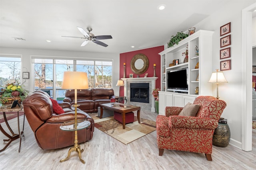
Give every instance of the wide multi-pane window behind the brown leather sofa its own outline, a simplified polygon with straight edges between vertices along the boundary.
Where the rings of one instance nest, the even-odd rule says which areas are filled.
[[[64,71],[82,71],[88,75],[89,88],[112,88],[112,61],[33,59],[34,88],[46,90],[56,100],[63,100]]]

